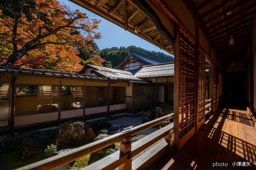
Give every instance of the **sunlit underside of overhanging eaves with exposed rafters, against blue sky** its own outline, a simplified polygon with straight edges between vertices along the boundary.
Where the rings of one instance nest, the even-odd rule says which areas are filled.
[[[131,0],[70,0],[95,14],[119,25],[170,54],[173,48],[156,29],[153,21]],[[111,41],[111,40],[109,40]]]

